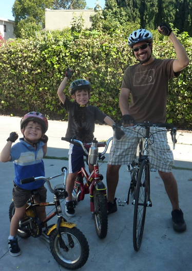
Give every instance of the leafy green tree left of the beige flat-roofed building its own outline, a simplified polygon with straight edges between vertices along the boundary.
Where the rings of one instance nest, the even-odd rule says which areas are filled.
[[[45,8],[52,8],[52,0],[15,0],[12,8],[15,37],[22,37],[22,29],[31,25],[35,31],[44,28]]]

